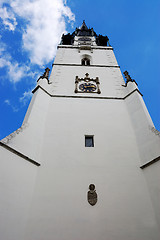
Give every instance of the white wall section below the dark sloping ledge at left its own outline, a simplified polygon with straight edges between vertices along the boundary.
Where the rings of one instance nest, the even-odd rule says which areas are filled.
[[[0,147],[0,239],[24,239],[37,166]]]

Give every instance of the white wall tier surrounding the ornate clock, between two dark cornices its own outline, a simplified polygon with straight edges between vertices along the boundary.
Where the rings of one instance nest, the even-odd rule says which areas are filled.
[[[92,66],[59,66],[54,67],[51,94],[93,97],[123,97],[123,78],[119,68],[102,68]],[[101,95],[96,93],[75,93],[75,78],[84,78],[89,73],[90,78],[99,78]],[[58,80],[57,80],[58,78]]]

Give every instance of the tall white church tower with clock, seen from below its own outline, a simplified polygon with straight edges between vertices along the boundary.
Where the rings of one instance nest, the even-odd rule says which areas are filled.
[[[62,36],[0,142],[0,239],[160,239],[160,132],[124,75],[85,22]]]

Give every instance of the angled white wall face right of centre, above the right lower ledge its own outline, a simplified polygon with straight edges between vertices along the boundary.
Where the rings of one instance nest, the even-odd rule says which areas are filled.
[[[160,156],[160,137],[151,131],[154,124],[140,94],[133,93],[125,102],[136,134],[141,163],[145,164]]]

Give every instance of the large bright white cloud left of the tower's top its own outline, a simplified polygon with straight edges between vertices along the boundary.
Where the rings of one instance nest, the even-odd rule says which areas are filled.
[[[2,3],[4,2],[6,1],[2,0]],[[28,51],[30,61],[38,65],[51,61],[56,54],[62,33],[66,32],[66,21],[75,19],[71,9],[66,5],[66,0],[8,0],[8,2],[10,4],[8,12],[5,7],[2,8],[6,11],[3,19],[8,21],[4,24],[13,31],[17,24],[15,16],[25,20],[22,45],[24,50]]]

